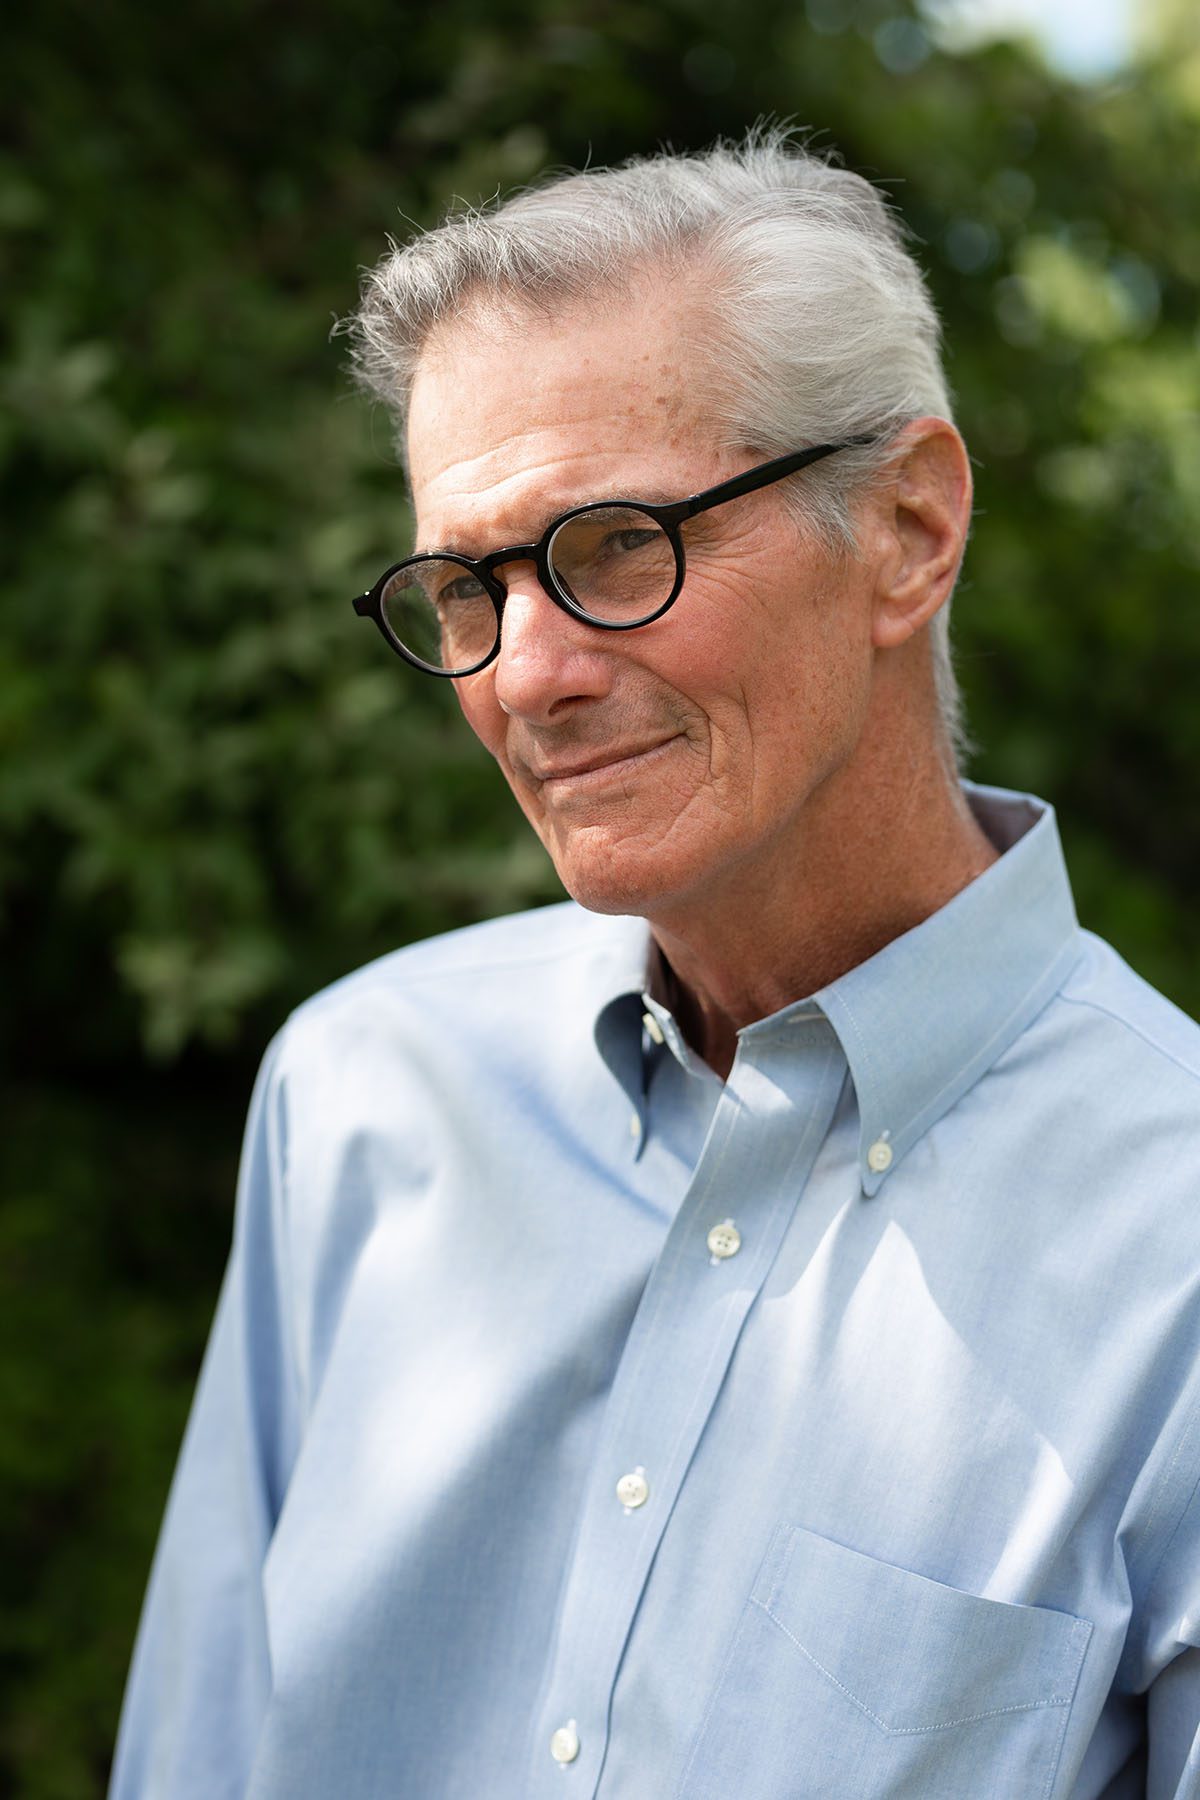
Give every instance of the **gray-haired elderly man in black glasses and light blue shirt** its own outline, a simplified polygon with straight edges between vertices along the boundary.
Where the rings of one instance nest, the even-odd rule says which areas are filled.
[[[356,329],[358,612],[574,904],[275,1040],[117,1800],[1200,1795],[1200,1033],[957,778],[887,207],[594,169]]]

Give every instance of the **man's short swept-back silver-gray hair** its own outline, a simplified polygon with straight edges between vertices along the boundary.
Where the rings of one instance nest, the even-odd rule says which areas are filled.
[[[910,419],[950,419],[941,329],[905,230],[871,182],[783,128],[698,155],[664,151],[551,176],[452,212],[367,272],[345,328],[362,387],[398,421],[401,455],[417,360],[473,308],[552,319],[628,297],[648,274],[703,275],[714,331],[698,376],[721,448],[786,454],[871,434],[788,482],[795,517],[855,549],[853,502]],[[705,367],[707,364],[707,367]],[[930,625],[950,752],[966,749],[950,607]]]

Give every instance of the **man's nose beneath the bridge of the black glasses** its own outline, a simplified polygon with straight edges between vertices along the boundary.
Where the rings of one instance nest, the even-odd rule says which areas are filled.
[[[583,700],[599,700],[612,680],[608,632],[554,605],[531,562],[504,571],[507,599],[493,662],[502,711],[531,724],[561,720]]]

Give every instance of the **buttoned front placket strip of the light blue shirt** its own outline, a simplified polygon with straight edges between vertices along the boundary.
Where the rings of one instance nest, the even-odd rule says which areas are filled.
[[[817,1012],[739,1039],[604,1409],[534,1730],[531,1796],[599,1789],[613,1685],[655,1552],[844,1075]]]

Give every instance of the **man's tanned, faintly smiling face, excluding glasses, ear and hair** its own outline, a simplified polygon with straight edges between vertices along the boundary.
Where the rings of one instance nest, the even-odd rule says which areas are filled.
[[[412,396],[417,545],[482,556],[587,500],[678,500],[750,468],[765,452],[718,450],[696,373],[653,293],[554,326],[457,320]],[[693,520],[684,545],[678,599],[633,632],[572,619],[533,563],[506,565],[500,653],[455,684],[563,886],[599,913],[752,896],[867,711],[865,563],[799,531],[779,488]]]

